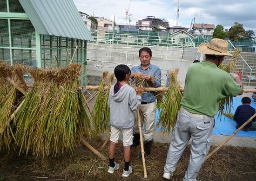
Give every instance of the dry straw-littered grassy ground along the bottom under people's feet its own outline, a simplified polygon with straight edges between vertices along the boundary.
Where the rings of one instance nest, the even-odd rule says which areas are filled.
[[[87,140],[102,155],[108,157],[108,145],[100,150],[104,141]],[[212,147],[210,151],[214,150]],[[0,181],[162,181],[168,144],[152,145],[151,155],[146,157],[148,178],[144,179],[142,161],[138,158],[140,147],[131,151],[131,166],[134,172],[121,176],[123,163],[122,143],[117,144],[115,161],[120,169],[108,174],[108,162],[101,160],[83,145],[78,145],[74,154],[61,157],[18,156],[18,152],[0,152]],[[226,146],[211,156],[202,166],[198,180],[202,181],[254,181],[256,176],[256,149]],[[190,147],[184,151],[171,181],[181,181],[189,162]]]

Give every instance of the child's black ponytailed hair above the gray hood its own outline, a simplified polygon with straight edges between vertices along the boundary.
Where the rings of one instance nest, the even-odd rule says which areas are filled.
[[[117,82],[114,86],[115,93],[119,91],[119,82],[123,81],[127,74],[131,74],[131,70],[127,65],[121,64],[117,65],[114,70],[115,78]]]

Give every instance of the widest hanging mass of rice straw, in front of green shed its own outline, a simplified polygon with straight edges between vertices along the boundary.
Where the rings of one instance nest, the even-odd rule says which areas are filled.
[[[78,92],[81,70],[79,63],[61,69],[30,69],[34,86],[14,118],[20,152],[61,155],[72,151],[83,133],[90,135],[82,92]]]

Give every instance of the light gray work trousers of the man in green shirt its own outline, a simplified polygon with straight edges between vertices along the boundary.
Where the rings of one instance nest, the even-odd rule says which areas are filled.
[[[173,140],[167,153],[164,166],[165,173],[175,171],[177,162],[182,156],[189,139],[192,138],[189,166],[183,181],[196,181],[198,172],[210,149],[214,121],[213,117],[192,114],[181,107],[172,134]]]

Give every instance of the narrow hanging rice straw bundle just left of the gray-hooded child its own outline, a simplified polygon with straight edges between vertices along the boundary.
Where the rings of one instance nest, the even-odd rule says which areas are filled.
[[[102,123],[106,123],[107,121],[104,120],[104,113],[108,112],[108,106],[104,106],[104,102],[108,99],[108,91],[104,89],[106,85],[106,80],[108,77],[108,71],[104,71],[101,78],[101,84],[99,86],[98,94],[96,97],[96,101],[94,103],[94,107],[92,110],[92,119],[94,125],[95,134],[100,136],[100,133],[105,131],[106,125]],[[112,80],[113,81],[113,80]],[[110,87],[108,87],[110,88]],[[106,104],[106,102],[105,102]]]

